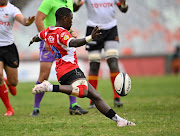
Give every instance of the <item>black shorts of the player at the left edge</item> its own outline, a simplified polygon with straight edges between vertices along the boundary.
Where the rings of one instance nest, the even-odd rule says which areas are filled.
[[[11,68],[19,67],[19,54],[16,45],[0,46],[0,61]]]

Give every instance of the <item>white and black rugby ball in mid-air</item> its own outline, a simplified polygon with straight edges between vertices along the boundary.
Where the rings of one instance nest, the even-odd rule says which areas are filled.
[[[119,73],[114,80],[114,88],[119,96],[126,96],[131,90],[131,79],[127,73]]]

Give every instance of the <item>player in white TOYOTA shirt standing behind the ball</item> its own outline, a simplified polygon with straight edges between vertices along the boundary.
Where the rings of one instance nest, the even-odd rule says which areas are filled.
[[[101,52],[104,49],[114,91],[114,106],[121,107],[123,103],[120,101],[120,97],[114,89],[115,77],[120,72],[118,66],[119,38],[117,20],[115,18],[115,5],[117,5],[123,13],[127,12],[128,5],[125,0],[77,0],[74,3],[74,10],[78,10],[83,3],[86,5],[88,14],[86,36],[91,34],[93,28],[97,25],[102,33],[101,36],[98,36],[97,39],[86,45],[90,62],[89,83],[97,90]],[[91,100],[89,108],[95,108]]]

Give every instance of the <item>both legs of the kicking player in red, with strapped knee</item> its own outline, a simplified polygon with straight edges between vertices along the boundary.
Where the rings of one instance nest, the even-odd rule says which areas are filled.
[[[90,83],[87,83],[85,78],[80,78],[73,81],[72,85],[52,85],[48,81],[33,88],[33,93],[41,92],[61,92],[68,95],[74,95],[80,98],[88,97],[95,103],[97,109],[106,117],[117,122],[118,127],[135,126],[135,123],[127,121],[118,116],[113,109],[111,109],[101,98],[99,93],[93,88]]]

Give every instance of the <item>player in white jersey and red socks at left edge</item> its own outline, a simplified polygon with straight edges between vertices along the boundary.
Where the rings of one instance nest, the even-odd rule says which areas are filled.
[[[7,109],[5,116],[14,115],[14,110],[10,105],[8,90],[4,84],[3,69],[7,75],[7,85],[13,95],[16,95],[15,86],[18,84],[19,54],[14,43],[12,27],[15,20],[24,26],[29,26],[34,19],[35,16],[25,18],[8,0],[0,0],[0,98]]]

